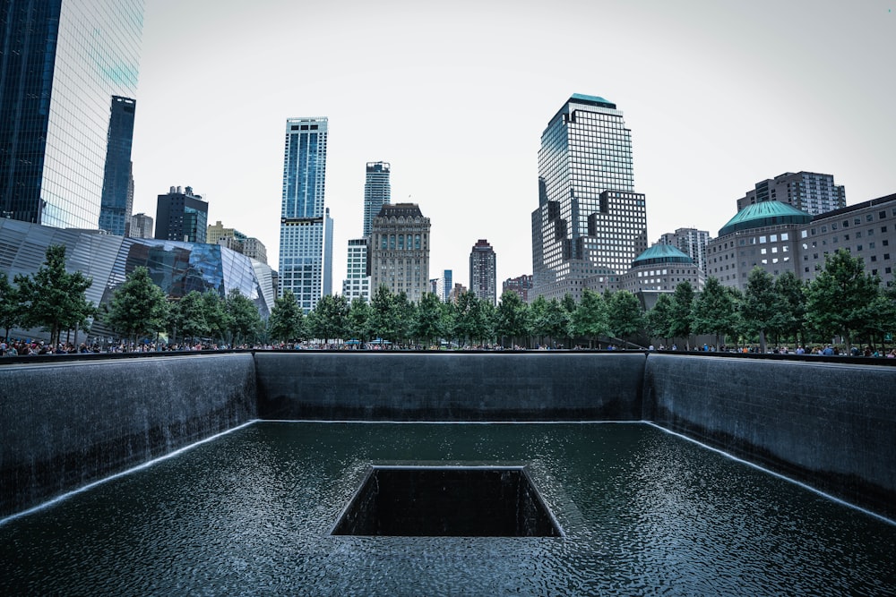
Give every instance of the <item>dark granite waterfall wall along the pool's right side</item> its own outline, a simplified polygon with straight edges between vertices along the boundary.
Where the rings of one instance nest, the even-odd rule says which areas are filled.
[[[896,519],[896,368],[650,354],[644,414]]]

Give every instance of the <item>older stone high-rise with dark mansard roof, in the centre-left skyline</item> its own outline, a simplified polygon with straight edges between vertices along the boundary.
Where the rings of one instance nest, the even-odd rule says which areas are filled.
[[[429,284],[429,218],[416,203],[383,205],[371,226],[370,289],[419,303]]]

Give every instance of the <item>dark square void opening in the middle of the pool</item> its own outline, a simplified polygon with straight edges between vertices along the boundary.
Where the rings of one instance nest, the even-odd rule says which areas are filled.
[[[522,466],[374,466],[332,534],[563,536]]]

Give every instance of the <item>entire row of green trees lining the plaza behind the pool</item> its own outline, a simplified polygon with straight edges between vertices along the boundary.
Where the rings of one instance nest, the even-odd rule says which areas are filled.
[[[806,345],[840,336],[849,349],[856,339],[883,342],[896,328],[896,290],[882,288],[877,276],[865,273],[862,260],[845,251],[829,255],[808,284],[789,272],[772,277],[756,268],[744,292],[714,277],[699,293],[685,282],[673,294],[659,294],[647,312],[625,290],[599,294],[586,289],[578,303],[567,295],[560,301],[539,296],[530,304],[507,292],[495,306],[469,292],[457,303],[443,303],[435,294],[413,303],[406,294],[381,287],[369,303],[323,296],[307,314],[287,292],[265,321],[236,290],[227,297],[194,291],[171,300],[145,268],[134,269],[111,301],[97,309],[84,298],[90,278],[65,271],[61,246],[49,247],[41,268],[33,276],[16,276],[14,283],[0,275],[0,326],[7,336],[17,326],[45,328],[54,343],[61,332],[83,328],[93,317],[132,342],[167,333],[172,341],[203,338],[228,345],[350,338],[403,345],[572,347],[577,340],[593,345],[609,337],[613,342],[660,338],[667,344],[678,339],[689,347],[694,335],[708,334],[716,337],[716,345],[758,342],[764,352],[767,337],[776,344]]]

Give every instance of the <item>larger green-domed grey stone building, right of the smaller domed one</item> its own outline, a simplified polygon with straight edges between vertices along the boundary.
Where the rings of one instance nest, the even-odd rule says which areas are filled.
[[[797,239],[812,216],[780,201],[762,201],[741,209],[706,246],[706,276],[722,286],[745,289],[755,267],[772,276],[797,271]]]

